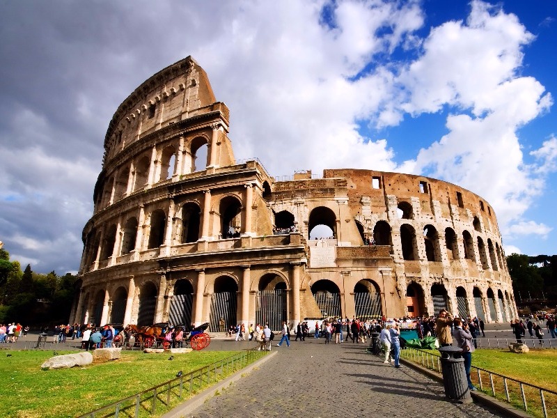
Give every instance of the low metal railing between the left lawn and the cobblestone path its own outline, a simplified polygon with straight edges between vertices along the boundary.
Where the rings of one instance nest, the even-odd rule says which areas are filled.
[[[125,417],[138,418],[162,413],[163,411],[159,409],[165,408],[168,410],[173,406],[173,400],[182,397],[188,398],[201,392],[211,384],[223,380],[223,378],[243,369],[268,353],[268,351],[258,351],[256,348],[245,350],[219,362],[203,366],[201,369],[185,373],[160,385],[122,398],[110,405],[79,415],[79,418],[119,417],[120,414]]]

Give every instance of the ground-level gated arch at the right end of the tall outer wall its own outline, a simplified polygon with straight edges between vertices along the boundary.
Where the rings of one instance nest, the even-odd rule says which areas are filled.
[[[256,323],[269,324],[271,330],[280,330],[282,321],[288,322],[286,283],[274,273],[259,279],[256,297]]]

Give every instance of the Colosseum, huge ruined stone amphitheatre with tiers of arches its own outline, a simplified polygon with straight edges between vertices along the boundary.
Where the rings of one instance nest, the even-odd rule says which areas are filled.
[[[113,115],[70,321],[151,325],[331,316],[516,316],[494,210],[434,178],[272,177],[237,160],[228,107],[187,57]]]

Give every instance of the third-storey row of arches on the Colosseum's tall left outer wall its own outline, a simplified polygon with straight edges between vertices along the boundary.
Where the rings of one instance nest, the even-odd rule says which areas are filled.
[[[189,141],[183,151],[178,144],[166,144],[159,150],[155,146],[143,152],[106,180],[95,201],[97,210],[147,185],[168,180],[174,175],[205,170],[210,164],[209,146],[208,139],[199,136]]]

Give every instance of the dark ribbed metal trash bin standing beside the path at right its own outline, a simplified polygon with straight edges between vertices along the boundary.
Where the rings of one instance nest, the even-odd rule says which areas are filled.
[[[445,396],[453,401],[469,403],[472,401],[462,348],[448,346],[439,347],[441,352],[441,370],[443,371],[443,384]]]

